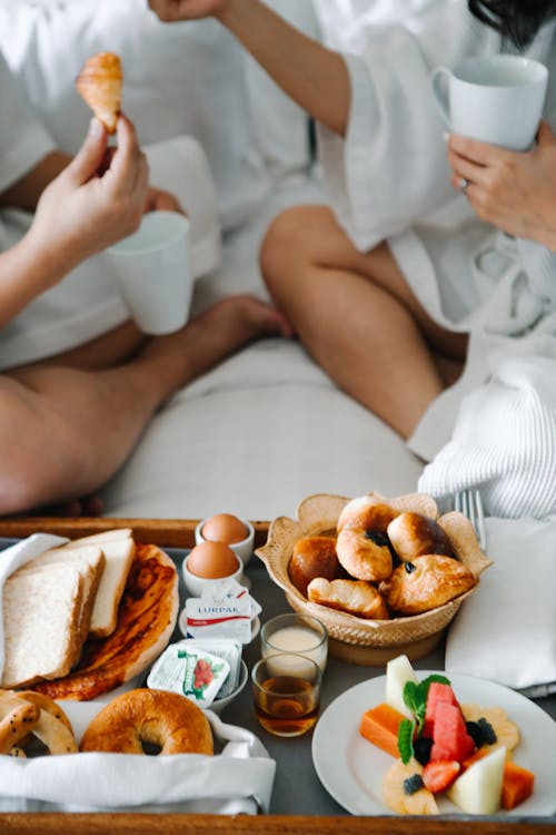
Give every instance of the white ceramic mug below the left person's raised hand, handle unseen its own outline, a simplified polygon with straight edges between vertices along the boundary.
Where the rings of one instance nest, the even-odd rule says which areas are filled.
[[[123,301],[143,333],[171,333],[186,324],[193,286],[187,217],[149,212],[133,235],[107,252]]]

